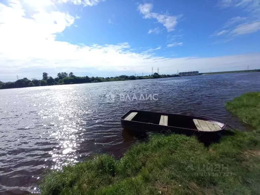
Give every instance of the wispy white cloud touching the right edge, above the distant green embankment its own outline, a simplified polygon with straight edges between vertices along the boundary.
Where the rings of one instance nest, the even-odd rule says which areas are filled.
[[[234,35],[243,35],[248,33],[254,33],[260,30],[260,21],[255,21],[253,23],[244,23],[238,25],[234,30],[231,31],[231,34]]]

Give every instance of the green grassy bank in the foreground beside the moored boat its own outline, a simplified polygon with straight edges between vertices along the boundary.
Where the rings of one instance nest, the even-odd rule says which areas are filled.
[[[260,93],[248,93],[226,104],[254,131],[209,147],[195,136],[153,134],[120,160],[95,155],[47,174],[41,194],[259,194],[259,102]]]

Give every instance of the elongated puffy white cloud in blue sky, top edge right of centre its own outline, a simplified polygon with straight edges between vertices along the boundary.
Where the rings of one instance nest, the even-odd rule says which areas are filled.
[[[145,19],[155,18],[157,19],[158,22],[162,23],[166,27],[168,32],[173,31],[174,27],[177,24],[177,19],[180,16],[169,16],[166,14],[162,15],[162,14],[154,13],[151,12],[152,8],[153,8],[153,4],[151,3],[140,4],[138,6],[140,13],[144,15]]]

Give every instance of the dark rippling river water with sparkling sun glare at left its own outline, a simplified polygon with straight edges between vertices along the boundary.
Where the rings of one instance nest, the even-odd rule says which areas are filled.
[[[121,157],[133,143],[119,119],[130,109],[205,116],[242,129],[224,103],[256,90],[260,73],[0,90],[0,194],[38,192],[44,173],[93,153]]]

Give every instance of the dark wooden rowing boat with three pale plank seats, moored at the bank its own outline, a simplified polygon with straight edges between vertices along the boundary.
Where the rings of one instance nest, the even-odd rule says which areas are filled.
[[[213,119],[141,110],[129,110],[120,120],[123,129],[134,133],[171,131],[187,135],[213,134],[226,127]]]

